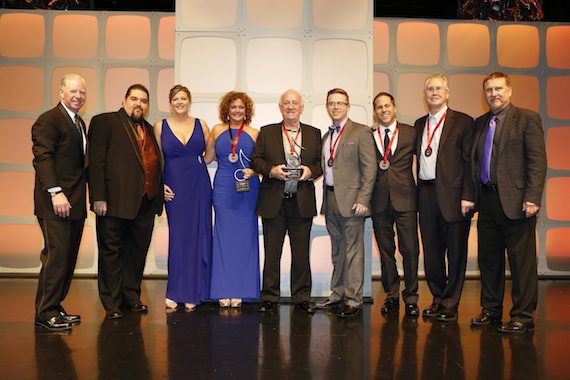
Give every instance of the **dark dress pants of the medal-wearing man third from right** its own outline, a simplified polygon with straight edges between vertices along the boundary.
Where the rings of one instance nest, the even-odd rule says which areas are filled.
[[[400,275],[396,267],[396,242],[394,224],[398,231],[398,248],[404,265],[404,283],[402,292],[405,303],[418,303],[418,216],[416,211],[399,212],[388,202],[383,212],[372,215],[374,236],[380,249],[382,268],[382,286],[388,298],[399,298]]]

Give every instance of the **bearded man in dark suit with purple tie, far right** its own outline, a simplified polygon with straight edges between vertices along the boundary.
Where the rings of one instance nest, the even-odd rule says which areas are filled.
[[[495,72],[483,80],[490,111],[475,121],[473,180],[479,189],[478,262],[481,314],[474,326],[499,324],[505,290],[505,249],[512,276],[511,320],[502,333],[534,329],[538,298],[536,215],[546,177],[540,115],[511,104],[511,79]]]

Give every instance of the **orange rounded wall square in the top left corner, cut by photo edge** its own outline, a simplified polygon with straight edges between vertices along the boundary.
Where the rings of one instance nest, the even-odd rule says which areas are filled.
[[[44,16],[32,13],[0,15],[0,36],[0,56],[41,57],[46,39]]]

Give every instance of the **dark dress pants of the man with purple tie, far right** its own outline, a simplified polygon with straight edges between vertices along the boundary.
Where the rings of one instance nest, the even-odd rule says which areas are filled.
[[[490,314],[503,312],[506,249],[513,281],[511,319],[532,321],[538,299],[535,230],[536,216],[508,219],[497,191],[481,189],[477,221],[481,306]]]

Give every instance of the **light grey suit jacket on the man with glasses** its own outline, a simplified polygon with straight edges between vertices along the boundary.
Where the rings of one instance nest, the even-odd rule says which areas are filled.
[[[323,137],[323,144],[329,132]],[[321,165],[326,165],[324,157]],[[376,148],[369,127],[348,119],[344,132],[336,146],[333,163],[335,197],[338,209],[343,217],[354,216],[352,206],[360,203],[368,207],[365,216],[372,215],[370,199],[376,180]],[[326,191],[323,191],[323,207],[326,212]]]

